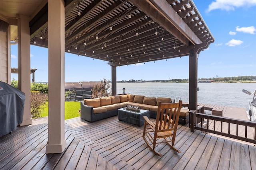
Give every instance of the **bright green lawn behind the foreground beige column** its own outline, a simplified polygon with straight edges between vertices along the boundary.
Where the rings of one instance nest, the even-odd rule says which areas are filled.
[[[80,102],[65,102],[65,120],[80,116]],[[41,117],[48,116],[48,102],[41,109]]]

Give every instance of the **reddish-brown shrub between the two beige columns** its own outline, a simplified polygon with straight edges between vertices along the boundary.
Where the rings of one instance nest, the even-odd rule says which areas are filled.
[[[48,94],[43,94],[38,91],[31,91],[31,116],[32,119],[41,117],[40,108],[45,104]]]

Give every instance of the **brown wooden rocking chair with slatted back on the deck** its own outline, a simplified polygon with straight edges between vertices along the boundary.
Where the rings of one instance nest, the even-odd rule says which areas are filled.
[[[156,121],[150,121],[148,117],[144,116],[145,122],[142,137],[148,147],[159,156],[162,156],[162,154],[155,150],[156,144],[159,143],[167,143],[173,150],[180,153],[180,150],[174,148],[174,141],[181,105],[182,100],[180,100],[179,103],[162,104],[162,102],[159,102]],[[158,138],[164,138],[164,141]]]

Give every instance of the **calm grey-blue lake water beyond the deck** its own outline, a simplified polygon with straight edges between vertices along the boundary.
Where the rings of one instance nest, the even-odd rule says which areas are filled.
[[[167,97],[175,99],[180,97],[188,102],[188,83],[117,83],[117,94],[126,93],[143,95],[147,97]],[[222,106],[242,107],[248,111],[252,96],[242,92],[242,89],[254,92],[256,83],[198,83],[198,103],[216,104]]]

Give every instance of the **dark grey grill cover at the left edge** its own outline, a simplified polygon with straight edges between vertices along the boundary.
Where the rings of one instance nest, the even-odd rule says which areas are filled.
[[[25,94],[0,82],[0,137],[16,129],[23,120]]]

